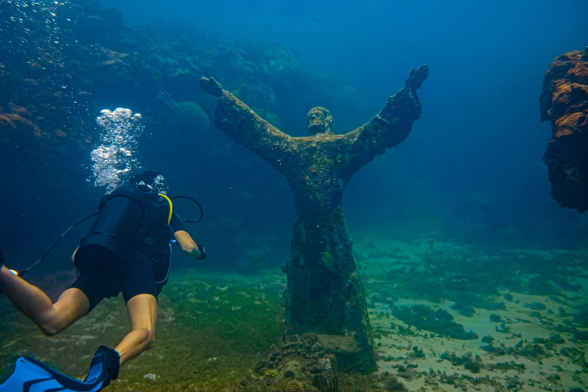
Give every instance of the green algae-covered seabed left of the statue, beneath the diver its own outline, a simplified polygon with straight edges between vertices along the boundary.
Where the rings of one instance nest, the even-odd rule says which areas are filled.
[[[109,391],[219,390],[252,373],[266,350],[283,332],[279,285],[268,287],[253,278],[229,281],[183,273],[172,275],[159,295],[156,343],[122,367]],[[195,278],[198,280],[189,280]],[[19,356],[32,356],[50,366],[83,377],[98,346],[115,347],[128,333],[122,298],[102,301],[88,316],[55,337],[0,301],[10,316],[0,331],[0,380],[8,377]],[[155,374],[155,380],[143,378]]]

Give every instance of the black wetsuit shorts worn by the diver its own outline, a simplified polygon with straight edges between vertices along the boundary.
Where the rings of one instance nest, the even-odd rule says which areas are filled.
[[[169,253],[150,258],[128,248],[119,270],[108,275],[81,274],[70,288],[78,288],[86,294],[90,301],[89,313],[104,298],[116,297],[121,291],[125,304],[139,294],[151,294],[157,298],[168,283],[168,268]]]

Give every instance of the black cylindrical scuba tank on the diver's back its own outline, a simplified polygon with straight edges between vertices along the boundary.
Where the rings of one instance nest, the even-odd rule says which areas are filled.
[[[74,264],[82,274],[105,274],[116,270],[124,260],[125,245],[141,227],[146,194],[136,185],[122,185],[104,195],[99,215],[74,254]]]

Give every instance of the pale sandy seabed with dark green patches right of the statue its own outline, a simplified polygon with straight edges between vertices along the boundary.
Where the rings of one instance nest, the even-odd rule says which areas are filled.
[[[370,320],[376,331],[379,370],[396,374],[409,390],[453,391],[457,388],[479,391],[567,391],[573,387],[588,385],[588,369],[584,367],[588,366],[587,342],[574,340],[573,334],[567,332],[570,328],[566,328],[566,325],[572,325],[570,318],[574,312],[586,311],[586,307],[582,305],[587,302],[588,250],[509,249],[493,250],[489,256],[485,251],[471,245],[433,241],[427,239],[427,236],[406,243],[375,235],[360,237],[354,247],[358,259],[363,259],[358,264],[365,282],[366,297],[369,298]],[[378,258],[369,258],[373,249],[378,250]],[[381,257],[380,251],[386,249],[393,250],[392,254]],[[495,268],[492,275],[514,274],[515,280],[520,280],[523,287],[525,281],[528,282],[531,277],[544,278],[544,291],[553,291],[558,295],[533,295],[497,286],[496,291],[487,294],[494,301],[504,303],[504,308],[487,310],[474,307],[475,313],[467,317],[452,309],[453,301],[415,298],[414,291],[407,290],[414,287],[407,287],[399,284],[399,281],[390,281],[387,278],[390,274],[386,270],[389,271],[390,268],[404,270],[406,275],[411,270],[426,270],[430,267],[430,264],[423,261],[422,256],[426,254],[442,257],[454,255],[466,258],[470,263],[476,263],[476,259],[490,258],[494,260],[490,265]],[[501,254],[507,260],[501,260]],[[516,258],[513,259],[513,255]],[[570,287],[557,287],[554,283],[557,277],[549,275],[554,259],[567,260],[568,265],[560,264],[556,274],[561,276],[563,271],[568,271],[566,282],[571,284]],[[505,268],[505,263],[509,264],[512,260],[520,260],[526,265],[536,264],[536,274],[522,274],[516,261],[510,268]],[[463,268],[463,265],[456,268]],[[445,272],[446,274],[437,271],[439,280],[468,278],[467,270],[459,275],[455,274],[456,271]],[[427,281],[422,281],[421,284],[426,285]],[[385,294],[380,294],[382,292]],[[385,296],[390,294],[390,297]],[[505,300],[505,294],[509,300]],[[536,310],[537,303],[544,304],[544,308]],[[394,311],[391,310],[393,307],[412,307],[415,304],[446,310],[453,316],[453,321],[462,324],[465,331],[475,332],[478,338],[459,340],[417,330],[394,317]],[[502,321],[490,321],[490,315],[497,315]],[[579,318],[586,317],[588,315],[584,314]],[[585,327],[586,325],[584,328],[577,327],[577,330],[585,331]],[[563,343],[550,342],[550,336],[554,335],[563,338]],[[499,348],[499,352],[483,350],[482,347],[489,346],[482,341],[483,337],[491,337],[491,345]],[[457,360],[452,361],[452,357],[457,357]],[[475,368],[475,373],[466,369],[460,363],[463,358],[471,358],[479,369]]]

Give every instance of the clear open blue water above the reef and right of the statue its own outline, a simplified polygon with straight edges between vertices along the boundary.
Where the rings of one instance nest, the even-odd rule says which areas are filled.
[[[587,22],[562,17],[587,11],[584,1],[103,4],[131,23],[185,23],[292,48],[304,64],[356,89],[354,118],[344,107],[328,108],[341,133],[376,114],[410,69],[429,64],[419,91],[423,115],[410,137],[363,168],[346,191],[352,232],[384,226],[470,242],[585,243],[586,220],[550,198],[540,161],[550,127],[539,121],[537,103],[553,58],[586,46]],[[303,115],[283,130],[303,135]]]

